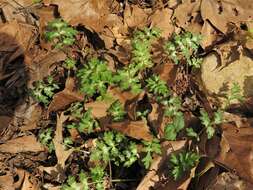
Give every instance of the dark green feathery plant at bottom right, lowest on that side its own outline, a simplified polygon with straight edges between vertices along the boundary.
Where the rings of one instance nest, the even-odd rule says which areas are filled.
[[[199,161],[200,156],[194,152],[181,152],[172,154],[169,166],[172,168],[171,175],[174,180],[178,180],[185,172],[192,169]]]

